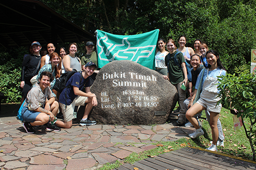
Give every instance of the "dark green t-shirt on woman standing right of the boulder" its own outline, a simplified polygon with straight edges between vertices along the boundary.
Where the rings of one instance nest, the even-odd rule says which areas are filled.
[[[177,53],[177,51],[175,51],[172,54],[168,54],[168,55],[170,55],[169,62],[167,61],[168,60],[168,55],[165,57],[165,61],[166,61],[166,63],[168,62],[168,65],[169,65],[168,72],[169,72],[169,79],[170,79],[171,84],[178,84],[178,83],[180,83],[184,80],[184,75],[183,75],[182,68],[180,68],[174,62],[174,56],[175,56],[176,53]],[[184,59],[182,53],[179,53],[177,55],[177,61],[180,63],[180,66],[181,66],[182,62],[185,62],[185,59]]]

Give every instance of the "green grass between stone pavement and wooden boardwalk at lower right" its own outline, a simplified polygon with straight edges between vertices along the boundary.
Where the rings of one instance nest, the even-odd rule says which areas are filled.
[[[152,145],[157,145],[161,143],[162,147],[157,147],[155,149],[144,151],[142,153],[132,153],[124,159],[124,163],[133,164],[136,161],[143,160],[148,158],[148,156],[157,156],[158,154],[165,153],[165,151],[169,150],[168,146],[173,150],[178,150],[182,147],[193,146],[199,147],[202,149],[206,149],[210,147],[210,141],[212,141],[212,130],[210,125],[208,124],[205,116],[205,112],[202,112],[202,117],[200,121],[202,122],[203,130],[205,132],[204,136],[197,137],[196,139],[190,139],[188,137],[179,139],[177,141],[161,141],[156,143],[151,143]],[[239,130],[234,130],[233,123],[233,115],[229,110],[222,108],[222,111],[219,114],[220,122],[222,122],[223,133],[225,136],[224,147],[218,147],[218,152],[222,152],[225,154],[230,154],[234,156],[238,156],[243,159],[252,159],[252,151],[250,147],[249,140],[246,137],[245,129],[241,127]],[[249,121],[249,119],[245,119],[245,122]],[[247,124],[247,123],[246,123]],[[130,143],[130,145],[133,145]],[[242,148],[242,146],[244,146]],[[118,167],[121,165],[121,162],[115,162],[113,166]],[[112,164],[104,165],[104,170],[113,169],[117,167],[112,167]],[[101,169],[102,170],[102,169]]]

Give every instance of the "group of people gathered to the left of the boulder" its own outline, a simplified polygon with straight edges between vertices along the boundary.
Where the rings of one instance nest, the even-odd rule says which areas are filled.
[[[76,43],[69,44],[69,54],[64,47],[60,48],[59,54],[56,53],[55,46],[49,43],[48,54],[41,57],[41,48],[39,42],[33,42],[29,48],[30,54],[25,55],[22,62],[20,87],[24,101],[21,101],[21,117],[25,121],[23,127],[26,132],[34,133],[34,126],[55,131],[70,128],[75,106],[85,104],[80,125],[96,124],[96,121],[88,120],[92,107],[98,104],[96,95],[90,92],[90,85],[94,81],[90,76],[98,73],[94,43],[86,43],[86,55],[82,57],[82,62],[75,56],[78,49]],[[68,80],[66,88],[58,94],[53,88],[56,79],[61,74],[74,70],[77,72]],[[62,112],[64,121],[56,120],[59,111]]]

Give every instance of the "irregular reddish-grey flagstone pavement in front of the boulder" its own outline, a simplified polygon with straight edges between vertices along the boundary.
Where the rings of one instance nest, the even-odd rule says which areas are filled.
[[[0,118],[1,169],[97,169],[132,152],[154,149],[157,141],[173,141],[193,128],[75,124],[60,132],[27,134],[15,116]]]

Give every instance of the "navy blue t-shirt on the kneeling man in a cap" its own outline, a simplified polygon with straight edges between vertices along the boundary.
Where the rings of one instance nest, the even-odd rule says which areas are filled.
[[[77,72],[71,76],[71,78],[67,81],[66,86],[71,85],[71,87],[66,87],[64,90],[62,90],[59,102],[62,104],[69,105],[73,102],[73,100],[77,97],[77,95],[74,94],[73,86],[76,86],[79,88],[79,90],[82,90],[84,87],[90,86],[90,77],[88,76],[87,79],[85,79],[82,76],[81,80],[81,74],[80,72]]]

